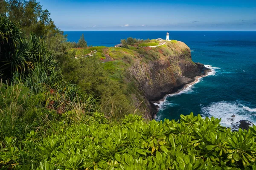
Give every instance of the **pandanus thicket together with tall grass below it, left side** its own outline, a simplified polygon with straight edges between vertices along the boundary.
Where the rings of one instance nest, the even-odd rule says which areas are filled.
[[[23,139],[30,130],[46,130],[75,105],[96,100],[63,79],[44,41],[31,33],[25,38],[17,24],[0,15],[0,140]]]

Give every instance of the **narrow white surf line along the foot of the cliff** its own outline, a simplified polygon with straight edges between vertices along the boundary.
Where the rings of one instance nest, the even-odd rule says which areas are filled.
[[[202,75],[197,75],[195,77],[191,77],[190,81],[180,85],[177,88],[172,89],[172,91],[170,91],[170,93],[164,94],[159,99],[149,101],[150,104],[151,104],[151,108],[152,108],[152,112],[151,112],[152,119],[156,118],[157,113],[160,109],[159,105],[161,105],[161,102],[164,102],[168,96],[175,96],[177,94],[182,93],[183,91],[186,90],[186,88],[189,88],[189,87],[195,85],[196,83],[200,82],[200,79],[202,79],[203,77],[207,77],[207,76],[211,75],[210,73],[213,73],[213,72],[214,72],[213,69],[208,68],[208,67],[206,67],[206,65],[204,65],[204,68],[202,69],[202,73],[203,73]],[[183,78],[188,78],[188,77],[183,77]]]

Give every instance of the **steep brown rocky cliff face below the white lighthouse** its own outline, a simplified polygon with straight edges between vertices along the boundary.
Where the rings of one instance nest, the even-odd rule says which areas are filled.
[[[158,52],[163,54],[158,59],[148,63],[135,59],[129,69],[137,86],[143,91],[145,105],[149,108],[145,110],[145,118],[152,118],[156,112],[151,101],[162,99],[204,74],[204,65],[192,61],[190,49],[183,42],[167,42],[167,47],[160,48]]]

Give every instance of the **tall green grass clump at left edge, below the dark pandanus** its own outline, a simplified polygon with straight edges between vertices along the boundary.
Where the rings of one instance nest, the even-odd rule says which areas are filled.
[[[21,139],[30,130],[49,125],[54,111],[44,108],[45,95],[33,94],[23,85],[0,83],[0,140]]]

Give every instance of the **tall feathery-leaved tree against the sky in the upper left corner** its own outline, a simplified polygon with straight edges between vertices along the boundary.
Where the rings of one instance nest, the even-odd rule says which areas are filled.
[[[67,37],[63,31],[59,30],[47,9],[36,0],[0,0],[0,13],[6,14],[9,20],[22,28],[23,34],[29,37],[30,33],[35,33],[46,43],[48,49],[55,54],[55,59],[61,58],[69,48]]]

